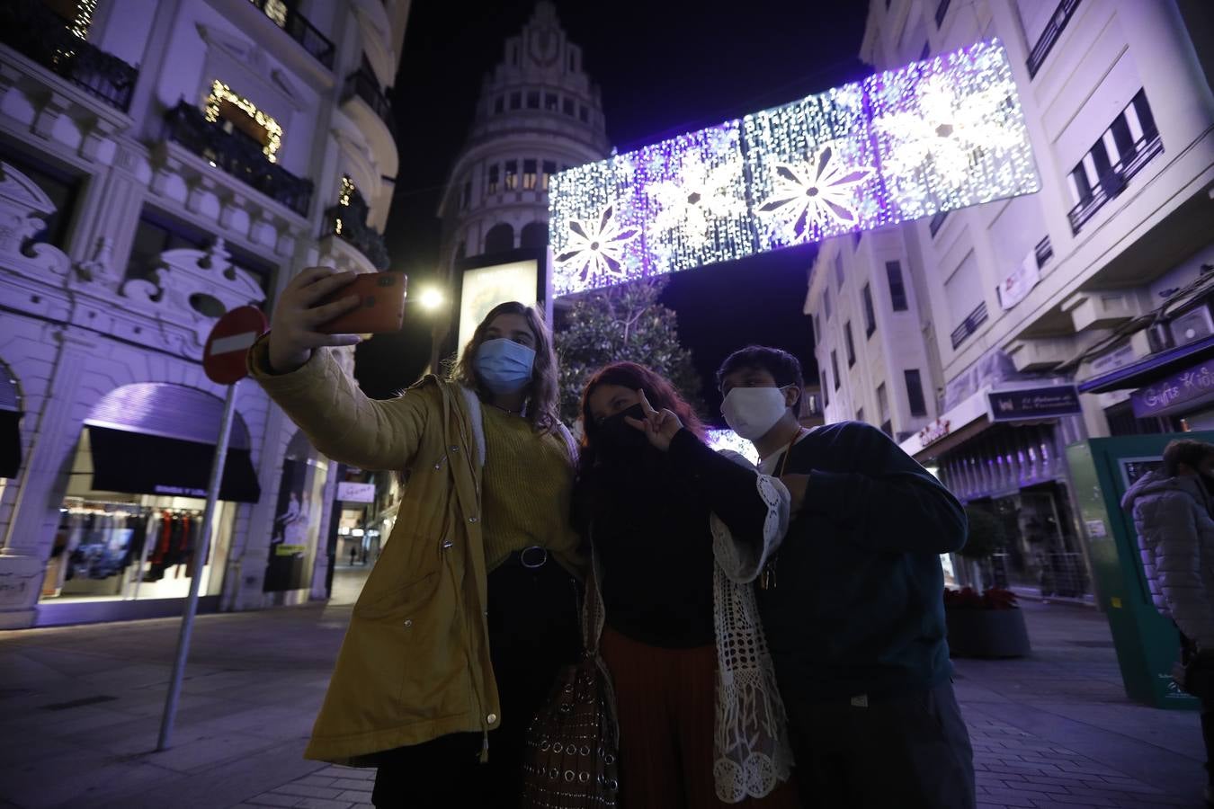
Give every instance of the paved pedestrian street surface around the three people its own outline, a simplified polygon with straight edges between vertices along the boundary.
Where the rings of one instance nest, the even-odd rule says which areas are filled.
[[[325,605],[200,616],[161,752],[178,620],[0,633],[0,808],[369,807],[373,770],[302,758],[364,576],[339,566]],[[1023,609],[1031,657],[957,661],[980,808],[1202,807],[1197,716],[1125,699],[1090,608]]]

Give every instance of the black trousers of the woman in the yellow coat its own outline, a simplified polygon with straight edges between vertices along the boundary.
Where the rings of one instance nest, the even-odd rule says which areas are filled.
[[[552,560],[531,570],[512,554],[489,574],[488,591],[489,656],[501,700],[488,763],[481,763],[478,733],[386,751],[371,794],[378,809],[518,805],[527,725],[557,671],[582,651],[580,585]]]

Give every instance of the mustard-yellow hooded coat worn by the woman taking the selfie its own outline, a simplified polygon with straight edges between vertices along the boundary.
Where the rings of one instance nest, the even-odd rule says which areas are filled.
[[[427,376],[396,399],[368,399],[328,349],[301,369],[254,378],[324,455],[363,469],[409,469],[396,524],[354,605],[305,757],[367,756],[501,723],[489,662],[480,522],[481,410],[475,394]],[[486,736],[488,745],[489,736]]]

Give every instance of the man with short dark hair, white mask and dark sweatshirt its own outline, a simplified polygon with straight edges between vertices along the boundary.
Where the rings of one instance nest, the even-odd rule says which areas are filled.
[[[717,383],[726,422],[793,498],[756,593],[802,804],[971,809],[940,565],[965,543],[960,503],[879,429],[802,428],[801,366],[787,352],[734,352]]]

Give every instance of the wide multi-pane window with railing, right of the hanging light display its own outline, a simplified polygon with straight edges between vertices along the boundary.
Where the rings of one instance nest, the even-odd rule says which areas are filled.
[[[1146,92],[1139,90],[1099,141],[1067,175],[1074,207],[1067,213],[1071,230],[1079,233],[1105,203],[1125,189],[1134,175],[1156,155],[1163,141]]]

